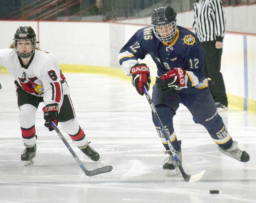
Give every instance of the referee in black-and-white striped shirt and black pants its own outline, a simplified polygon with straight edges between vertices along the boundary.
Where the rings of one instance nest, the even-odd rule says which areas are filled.
[[[228,99],[222,74],[220,72],[223,37],[226,19],[220,0],[198,0],[194,3],[193,32],[204,49],[205,76],[211,78],[214,86],[209,89],[218,112],[228,110]]]

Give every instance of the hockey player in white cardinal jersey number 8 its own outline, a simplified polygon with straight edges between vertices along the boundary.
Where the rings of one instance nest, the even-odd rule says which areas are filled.
[[[45,126],[54,130],[51,121],[58,122],[69,134],[79,149],[93,161],[99,154],[88,145],[88,138],[79,126],[70,98],[70,91],[57,58],[36,49],[36,34],[32,27],[19,27],[13,44],[0,49],[0,66],[5,67],[15,78],[19,107],[19,123],[25,149],[21,154],[24,165],[32,165],[36,156],[36,110],[44,102]]]

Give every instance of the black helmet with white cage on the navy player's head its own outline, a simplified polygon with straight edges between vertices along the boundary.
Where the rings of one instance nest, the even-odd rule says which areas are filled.
[[[154,10],[151,26],[160,41],[170,42],[174,39],[177,30],[176,16],[177,13],[171,6],[158,7]]]

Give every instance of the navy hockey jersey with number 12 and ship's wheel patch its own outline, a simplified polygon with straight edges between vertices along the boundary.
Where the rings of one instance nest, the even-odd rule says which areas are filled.
[[[177,26],[170,45],[157,39],[152,27],[139,29],[119,53],[119,63],[127,76],[132,75],[130,70],[139,63],[138,59],[144,59],[147,54],[156,63],[158,77],[174,68],[186,71],[185,87],[177,87],[176,90],[189,87],[203,89],[211,83],[211,79],[204,76],[204,54],[200,41],[186,28]]]

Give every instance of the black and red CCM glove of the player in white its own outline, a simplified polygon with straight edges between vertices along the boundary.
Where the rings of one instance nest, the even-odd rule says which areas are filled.
[[[53,131],[54,128],[51,125],[51,121],[58,125],[58,104],[47,104],[43,109],[45,127],[48,127],[49,131]]]

